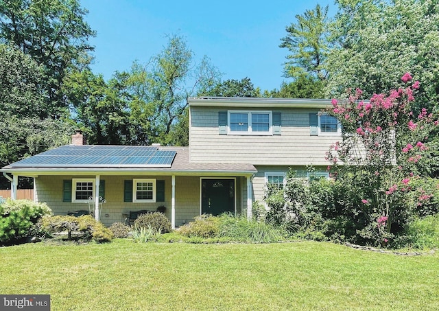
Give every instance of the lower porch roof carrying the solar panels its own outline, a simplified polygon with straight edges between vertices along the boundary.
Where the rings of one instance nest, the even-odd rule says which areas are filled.
[[[216,174],[249,176],[250,163],[191,163],[187,147],[67,145],[3,167],[23,176],[59,174]]]

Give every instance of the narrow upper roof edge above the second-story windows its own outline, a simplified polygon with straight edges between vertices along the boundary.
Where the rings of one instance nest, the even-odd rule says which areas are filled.
[[[189,97],[189,106],[250,107],[250,108],[327,108],[331,100],[309,98],[266,97]]]

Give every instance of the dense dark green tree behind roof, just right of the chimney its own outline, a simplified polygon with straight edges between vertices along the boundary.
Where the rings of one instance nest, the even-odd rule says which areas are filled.
[[[132,124],[128,78],[128,73],[115,73],[106,82],[101,74],[85,69],[66,79],[64,93],[75,108],[75,119],[84,128],[87,143],[145,144]]]

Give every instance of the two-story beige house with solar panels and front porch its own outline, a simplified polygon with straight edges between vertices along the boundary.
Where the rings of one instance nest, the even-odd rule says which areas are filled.
[[[189,98],[188,147],[90,146],[78,132],[71,145],[1,172],[12,183],[12,197],[18,176],[30,176],[34,200],[47,203],[54,214],[90,209],[106,225],[125,220],[130,211],[159,206],[166,207],[172,227],[200,214],[250,216],[265,184],[283,185],[289,168],[307,176],[306,165],[313,165],[316,174],[328,176],[325,153],[341,138],[337,119],[322,113],[330,105],[330,100]]]

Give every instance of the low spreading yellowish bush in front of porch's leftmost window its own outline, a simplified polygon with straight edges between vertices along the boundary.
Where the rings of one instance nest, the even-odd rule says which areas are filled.
[[[53,216],[43,219],[43,227],[51,233],[67,231],[68,239],[73,239],[72,233],[77,233],[78,240],[95,242],[110,242],[114,235],[102,222],[98,222],[90,215]]]

